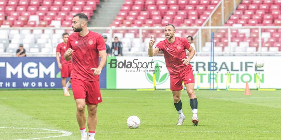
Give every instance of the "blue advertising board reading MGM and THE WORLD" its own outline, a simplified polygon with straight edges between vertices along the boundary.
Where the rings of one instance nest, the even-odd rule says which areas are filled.
[[[100,75],[106,88],[106,68]],[[0,58],[0,88],[61,88],[62,78],[56,58]]]

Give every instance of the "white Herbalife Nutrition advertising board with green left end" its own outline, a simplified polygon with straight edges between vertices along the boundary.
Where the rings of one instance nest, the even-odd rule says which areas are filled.
[[[245,88],[246,81],[250,88],[256,88],[256,73],[260,75],[260,88],[280,88],[281,66],[276,60],[281,57],[269,56],[235,56],[215,57],[215,79],[218,87],[226,87],[227,71],[230,72],[230,88]],[[256,68],[254,61],[264,60],[263,68]],[[210,86],[210,57],[194,57],[191,61],[195,76],[195,89],[199,80],[200,87]],[[170,76],[165,66],[165,59],[155,57],[108,57],[107,83],[108,89],[147,89],[153,88],[155,72],[156,88],[169,89]],[[215,87],[216,87],[216,80]]]

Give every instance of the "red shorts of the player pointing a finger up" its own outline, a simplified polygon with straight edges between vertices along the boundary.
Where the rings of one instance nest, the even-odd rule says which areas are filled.
[[[182,81],[184,84],[195,83],[192,69],[185,69],[178,74],[170,74],[171,84],[170,89],[172,91],[182,90]]]

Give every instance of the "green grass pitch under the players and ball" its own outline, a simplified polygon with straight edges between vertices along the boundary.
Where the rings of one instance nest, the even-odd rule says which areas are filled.
[[[171,91],[101,90],[101,93],[97,140],[281,138],[280,90],[251,90],[250,96],[245,96],[243,91],[195,91],[198,126],[191,122],[186,91],[181,94],[186,118],[182,126],[175,125],[178,114]],[[131,115],[141,119],[139,128],[127,127],[126,120]],[[72,134],[50,138],[63,135],[62,131]],[[81,138],[72,91],[70,97],[65,97],[62,90],[1,90],[0,139],[42,137]]]

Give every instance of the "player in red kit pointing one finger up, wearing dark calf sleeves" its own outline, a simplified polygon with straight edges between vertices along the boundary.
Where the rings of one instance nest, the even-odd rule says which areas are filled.
[[[190,107],[193,113],[192,123],[193,125],[198,125],[198,103],[194,92],[193,70],[190,64],[191,58],[195,55],[195,50],[190,47],[190,44],[185,38],[175,37],[175,33],[175,26],[167,24],[165,26],[166,39],[156,44],[154,49],[152,49],[152,46],[154,45],[155,40],[153,40],[151,36],[148,55],[152,57],[160,50],[163,51],[166,67],[170,73],[170,89],[174,96],[174,105],[179,114],[177,125],[182,125],[185,120],[180,100],[180,90],[183,89],[182,82],[184,82],[187,94],[190,98]],[[190,52],[188,58],[186,58],[185,49]]]

